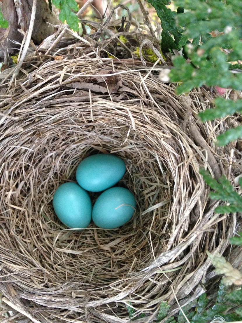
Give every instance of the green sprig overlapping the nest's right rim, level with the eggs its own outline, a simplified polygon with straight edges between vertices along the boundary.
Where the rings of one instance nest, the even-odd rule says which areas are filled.
[[[209,196],[214,200],[222,200],[227,202],[229,205],[221,205],[215,209],[215,213],[231,213],[231,212],[242,212],[242,198],[241,196],[234,191],[233,186],[226,179],[225,176],[222,176],[219,181],[216,181],[208,171],[200,169],[200,174],[203,176],[203,179],[210,186],[214,192],[210,192]],[[239,180],[240,187],[242,187],[242,179]]]

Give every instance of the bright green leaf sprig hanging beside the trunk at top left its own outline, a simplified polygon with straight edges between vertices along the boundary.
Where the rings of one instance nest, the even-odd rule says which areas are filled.
[[[55,5],[57,8],[60,8],[60,14],[59,19],[64,23],[66,20],[66,23],[69,25],[71,29],[74,31],[78,31],[78,22],[79,19],[76,16],[74,11],[78,11],[78,6],[75,0],[52,0],[53,5]]]

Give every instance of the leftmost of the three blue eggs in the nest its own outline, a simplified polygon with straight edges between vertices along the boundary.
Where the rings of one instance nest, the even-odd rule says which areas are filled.
[[[69,228],[86,228],[91,221],[91,199],[76,183],[64,183],[57,188],[53,207],[61,222]]]

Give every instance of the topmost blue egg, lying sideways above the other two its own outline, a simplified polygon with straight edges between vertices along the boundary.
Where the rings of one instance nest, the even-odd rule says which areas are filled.
[[[124,176],[124,161],[114,155],[97,154],[85,158],[76,170],[78,184],[87,191],[101,192]]]

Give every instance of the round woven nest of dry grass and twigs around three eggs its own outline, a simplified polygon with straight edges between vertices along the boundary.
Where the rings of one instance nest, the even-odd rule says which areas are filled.
[[[182,305],[205,291],[206,250],[224,252],[235,230],[236,214],[214,215],[217,203],[199,174],[199,167],[229,172],[230,147],[213,143],[218,122],[198,123],[200,135],[192,128],[210,93],[177,97],[172,85],[135,64],[46,63],[2,102],[0,287],[18,319],[127,322],[131,306],[137,322],[152,321],[163,300],[173,304],[172,315],[174,295]],[[100,82],[106,92],[92,90]],[[54,213],[53,194],[99,152],[125,161],[118,185],[134,193],[136,213],[114,230],[92,223],[70,230]]]

